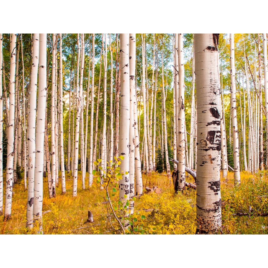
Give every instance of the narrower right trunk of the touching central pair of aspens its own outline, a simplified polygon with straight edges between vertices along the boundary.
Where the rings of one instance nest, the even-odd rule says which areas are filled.
[[[129,34],[129,213],[134,213],[134,173],[135,173],[135,134],[134,134],[134,95],[135,95],[136,34]]]

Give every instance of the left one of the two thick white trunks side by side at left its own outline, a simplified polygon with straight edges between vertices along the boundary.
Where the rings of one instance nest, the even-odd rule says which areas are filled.
[[[35,125],[36,125],[36,92],[37,73],[39,64],[39,34],[33,35],[33,54],[31,70],[31,87],[28,116],[28,197],[26,211],[26,227],[33,227],[33,200],[34,200],[34,171],[35,171]],[[42,177],[43,179],[43,177]]]

